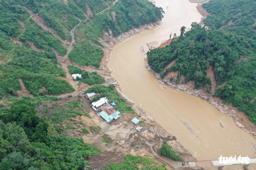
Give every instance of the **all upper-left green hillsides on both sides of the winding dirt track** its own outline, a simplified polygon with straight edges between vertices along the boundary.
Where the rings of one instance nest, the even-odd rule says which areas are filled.
[[[132,27],[157,21],[163,12],[147,0],[119,0],[115,6],[113,0],[67,2],[68,6],[59,0],[0,1],[0,97],[17,95],[16,91],[21,90],[19,79],[34,96],[74,91],[68,82],[58,78],[66,75],[55,53],[60,56],[67,53],[61,40],[71,41],[69,32],[79,20],[69,59],[80,65],[99,67],[104,53],[98,39],[103,30],[119,35]],[[131,5],[134,7],[127,8]],[[96,15],[106,8],[109,9]],[[33,15],[41,17],[61,39],[43,30],[34,22]],[[89,85],[105,82],[96,73],[83,74],[87,78],[82,82]]]

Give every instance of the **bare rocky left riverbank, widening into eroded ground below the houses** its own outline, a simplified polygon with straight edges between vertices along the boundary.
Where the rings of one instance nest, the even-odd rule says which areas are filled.
[[[86,120],[85,118],[80,118],[85,124],[96,124],[99,125],[102,128],[102,132],[100,134],[96,135],[90,135],[90,139],[88,139],[88,135],[83,136],[82,138],[85,140],[86,143],[89,143],[90,145],[99,147],[102,150],[102,153],[94,155],[90,160],[88,160],[92,164],[92,168],[101,168],[104,167],[106,163],[112,163],[112,162],[121,162],[122,157],[128,154],[132,155],[153,155],[157,158],[158,161],[163,161],[167,164],[168,169],[175,168],[180,169],[181,162],[178,161],[172,161],[169,158],[164,158],[160,155],[158,155],[158,148],[161,147],[162,140],[166,139],[168,141],[168,144],[173,147],[173,150],[180,154],[182,156],[182,159],[185,161],[194,161],[196,160],[189,151],[184,148],[179,142],[176,141],[175,136],[168,133],[164,128],[156,123],[156,121],[143,109],[140,108],[139,105],[135,104],[134,101],[129,99],[126,95],[122,93],[119,87],[119,83],[116,82],[116,80],[111,76],[112,71],[107,67],[108,61],[110,59],[110,52],[112,51],[112,48],[119,44],[120,42],[126,40],[127,38],[133,36],[134,34],[140,34],[141,31],[148,29],[151,30],[152,27],[155,25],[159,25],[159,22],[156,23],[150,23],[146,25],[142,25],[139,28],[133,28],[132,30],[129,30],[128,32],[123,32],[120,36],[114,37],[114,35],[108,35],[106,32],[104,32],[104,37],[100,39],[100,42],[105,46],[103,48],[103,51],[105,55],[103,56],[100,67],[95,68],[91,66],[79,66],[70,61],[69,59],[60,60],[62,66],[66,65],[74,65],[81,69],[84,69],[89,72],[96,71],[99,75],[103,76],[106,79],[106,82],[102,85],[109,86],[110,84],[115,85],[116,91],[128,102],[130,106],[135,110],[136,114],[130,114],[125,113],[122,116],[120,116],[120,119],[116,121],[117,123],[128,122],[133,117],[139,117],[139,119],[143,120],[144,122],[140,125],[142,126],[141,132],[136,132],[136,130],[129,131],[130,126],[134,126],[131,122],[128,123],[127,127],[120,126],[119,124],[107,124],[101,120],[100,117],[96,116],[94,112],[91,112],[90,115],[92,116],[93,120]],[[73,81],[73,80],[71,80]],[[79,86],[76,86],[76,91],[74,91],[71,94],[64,94],[60,95],[59,97],[67,98],[67,96],[73,95],[82,95],[85,94],[86,90],[91,86],[85,86],[84,83],[80,83]],[[88,105],[88,102],[85,101],[83,104]],[[90,107],[86,107],[88,110],[90,110]],[[79,119],[79,120],[80,120]],[[79,135],[74,133],[75,136]],[[111,141],[113,143],[111,145],[108,145],[107,147],[103,143],[102,145],[102,135],[107,134]],[[150,145],[145,145],[144,141],[147,140]],[[114,144],[115,143],[115,144]],[[136,146],[140,146],[139,148],[136,148]],[[147,147],[148,146],[148,147]],[[118,148],[118,149],[117,149]],[[152,152],[152,150],[154,152]],[[155,154],[156,153],[156,154]],[[105,158],[104,161],[102,161],[102,156]],[[113,158],[115,161],[113,161]],[[99,162],[100,160],[100,162]]]

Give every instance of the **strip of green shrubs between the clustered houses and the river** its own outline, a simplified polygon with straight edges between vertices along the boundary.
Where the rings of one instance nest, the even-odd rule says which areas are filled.
[[[126,100],[123,99],[119,93],[117,93],[114,90],[115,86],[113,84],[109,86],[100,86],[100,85],[94,85],[93,87],[90,87],[87,92],[88,93],[99,93],[101,97],[107,97],[109,100],[109,103],[114,102],[117,107],[119,112],[124,113],[134,113],[134,110],[131,108],[131,106],[128,106],[126,103]]]

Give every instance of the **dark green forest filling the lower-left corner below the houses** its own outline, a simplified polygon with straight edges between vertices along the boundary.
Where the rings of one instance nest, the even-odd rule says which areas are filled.
[[[83,139],[58,135],[69,127],[60,126],[58,130],[56,126],[69,117],[84,115],[82,104],[72,101],[63,107],[47,108],[43,111],[45,116],[39,118],[35,110],[39,105],[61,98],[25,98],[9,98],[0,105],[0,169],[80,170],[90,167],[86,158],[99,153],[100,149],[84,143]]]

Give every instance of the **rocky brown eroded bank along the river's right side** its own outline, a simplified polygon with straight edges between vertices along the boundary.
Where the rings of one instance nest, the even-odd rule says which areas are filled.
[[[191,3],[197,3],[197,11],[203,16],[201,18],[200,25],[204,25],[203,20],[210,15],[206,9],[202,7],[203,3],[209,2],[209,0],[189,0]],[[163,42],[160,46],[157,47],[164,47],[166,45],[169,45],[171,42],[171,39],[167,40],[166,42]],[[176,91],[182,90],[185,93],[189,95],[193,95],[196,97],[200,97],[204,101],[207,101],[211,105],[213,105],[215,108],[217,108],[221,113],[226,114],[233,118],[234,123],[238,128],[241,128],[246,133],[252,135],[256,139],[256,126],[251,123],[248,116],[245,115],[245,113],[239,111],[237,108],[234,108],[231,104],[223,104],[222,100],[218,97],[213,97],[211,94],[213,94],[213,91],[211,94],[207,93],[205,90],[195,90],[194,89],[194,82],[188,82],[184,84],[176,84],[169,82],[169,79],[161,79],[160,75],[158,73],[155,73],[151,70],[150,66],[148,65],[147,60],[145,60],[145,68],[148,69],[152,74],[155,75],[156,79],[159,81],[159,83],[169,86],[171,88],[176,89]],[[175,75],[175,73],[172,73]],[[214,76],[214,75],[213,75]],[[215,90],[216,87],[213,89]]]

